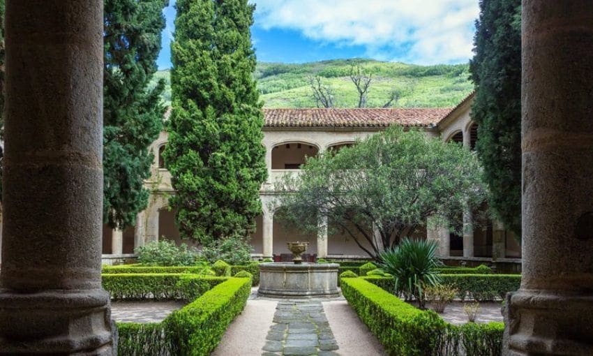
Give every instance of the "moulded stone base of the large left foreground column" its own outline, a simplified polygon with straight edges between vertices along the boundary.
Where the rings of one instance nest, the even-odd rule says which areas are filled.
[[[0,355],[117,355],[105,290],[0,290]]]

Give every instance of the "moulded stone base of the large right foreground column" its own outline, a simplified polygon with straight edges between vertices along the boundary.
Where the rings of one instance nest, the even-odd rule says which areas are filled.
[[[591,293],[509,293],[503,312],[503,355],[593,355],[592,311]]]

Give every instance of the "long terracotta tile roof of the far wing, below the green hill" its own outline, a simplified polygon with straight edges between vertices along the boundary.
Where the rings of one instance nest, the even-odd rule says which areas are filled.
[[[389,109],[264,109],[266,127],[431,126],[451,108]]]

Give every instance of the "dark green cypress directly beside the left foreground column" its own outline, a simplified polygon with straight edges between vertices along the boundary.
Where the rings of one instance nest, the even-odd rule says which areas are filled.
[[[126,228],[146,209],[153,154],[148,147],[163,128],[165,107],[156,72],[167,0],[105,0],[103,220]]]

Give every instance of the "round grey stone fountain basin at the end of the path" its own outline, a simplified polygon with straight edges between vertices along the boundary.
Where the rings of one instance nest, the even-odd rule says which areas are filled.
[[[338,267],[337,263],[262,263],[257,294],[275,298],[336,297]]]

